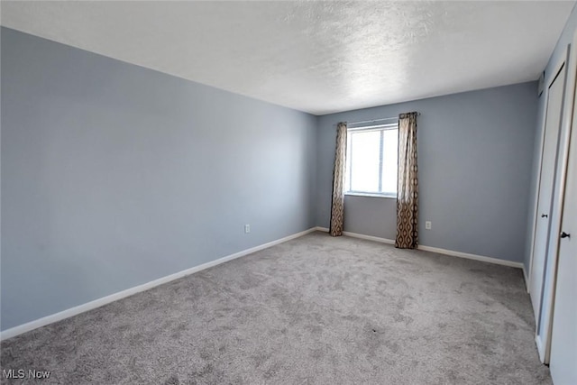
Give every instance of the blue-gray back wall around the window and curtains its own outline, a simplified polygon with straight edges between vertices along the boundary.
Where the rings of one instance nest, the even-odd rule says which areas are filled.
[[[418,111],[420,244],[523,261],[536,101],[530,82],[320,116],[317,225],[329,225],[336,124]],[[344,230],[394,239],[395,210],[346,197]]]

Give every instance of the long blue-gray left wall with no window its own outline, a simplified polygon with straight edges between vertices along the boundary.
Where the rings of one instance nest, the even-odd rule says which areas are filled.
[[[3,330],[315,225],[315,116],[1,38]]]

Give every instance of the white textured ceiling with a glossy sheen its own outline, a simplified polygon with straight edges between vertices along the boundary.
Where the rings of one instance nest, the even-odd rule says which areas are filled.
[[[538,78],[574,2],[9,2],[2,25],[315,115]]]

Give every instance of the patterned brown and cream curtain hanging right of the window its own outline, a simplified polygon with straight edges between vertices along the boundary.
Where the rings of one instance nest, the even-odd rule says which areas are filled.
[[[418,245],[417,113],[398,115],[397,238],[395,247]]]

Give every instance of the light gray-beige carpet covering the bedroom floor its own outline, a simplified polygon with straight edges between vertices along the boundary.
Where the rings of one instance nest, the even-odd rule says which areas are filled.
[[[2,369],[66,384],[551,383],[521,274],[314,233],[7,340]]]

